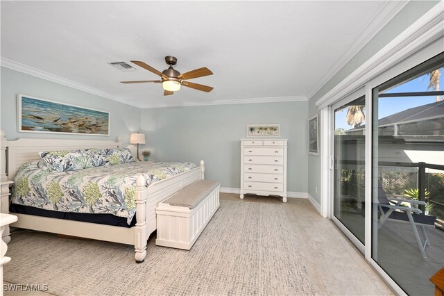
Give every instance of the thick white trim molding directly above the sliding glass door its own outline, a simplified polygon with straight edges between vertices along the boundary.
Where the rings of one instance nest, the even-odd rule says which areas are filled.
[[[333,104],[373,79],[377,74],[399,63],[434,40],[442,38],[444,35],[444,7],[442,4],[442,1],[436,4],[374,56],[366,60],[366,63],[355,69],[343,81],[318,99],[316,101],[318,109]]]

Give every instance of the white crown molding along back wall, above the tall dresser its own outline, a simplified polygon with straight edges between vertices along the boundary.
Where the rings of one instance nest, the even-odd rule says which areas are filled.
[[[215,101],[184,101],[176,104],[149,104],[140,108],[169,108],[169,107],[193,107],[193,106],[217,106],[237,104],[260,104],[260,103],[282,103],[287,101],[308,101],[305,96],[291,97],[263,97],[250,99],[219,99]]]

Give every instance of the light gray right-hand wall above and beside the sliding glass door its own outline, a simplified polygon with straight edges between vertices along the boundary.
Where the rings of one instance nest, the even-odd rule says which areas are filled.
[[[410,1],[402,8],[398,15],[395,15],[384,28],[382,28],[375,37],[370,40],[365,47],[363,47],[347,64],[336,73],[330,81],[325,83],[323,87],[309,99],[308,112],[309,117],[318,113],[318,108],[315,103],[318,99],[323,97],[324,94],[329,92],[334,86],[343,81],[349,76],[355,69],[360,67],[370,57],[375,55],[377,51],[382,49],[388,42],[391,42],[402,31],[409,27],[422,15],[436,5],[439,1]],[[321,142],[321,145],[323,143]],[[308,193],[311,197],[314,197],[317,202],[321,201],[321,156],[309,156],[308,159]],[[316,192],[318,188],[318,192]]]

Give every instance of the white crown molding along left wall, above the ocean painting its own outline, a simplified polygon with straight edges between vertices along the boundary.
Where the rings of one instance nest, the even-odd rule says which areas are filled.
[[[47,81],[52,81],[61,85],[68,86],[69,88],[75,88],[76,90],[82,90],[83,92],[88,92],[90,94],[95,94],[99,97],[104,97],[105,99],[111,99],[113,101],[118,101],[119,103],[130,105],[133,107],[140,108],[139,106],[136,106],[134,104],[129,104],[127,101],[123,101],[123,99],[116,97],[108,92],[103,92],[101,90],[97,90],[96,88],[91,88],[87,85],[77,83],[75,81],[71,81],[69,79],[65,79],[63,77],[44,72],[40,69],[35,69],[33,67],[29,67],[27,65],[23,65],[21,63],[17,63],[13,60],[9,60],[8,58],[0,57],[0,65],[1,67],[6,67],[8,69],[12,69],[18,72],[22,72],[31,76],[35,76]]]

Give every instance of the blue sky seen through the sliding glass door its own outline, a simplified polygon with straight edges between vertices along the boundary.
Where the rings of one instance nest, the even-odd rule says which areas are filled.
[[[422,92],[427,91],[429,85],[429,76],[423,75],[407,83],[398,85],[391,90],[387,90],[384,93],[393,92]],[[441,70],[440,78],[440,90],[444,90],[444,70]],[[430,91],[430,90],[429,90]],[[379,98],[378,118],[384,118],[388,115],[398,113],[402,110],[409,108],[430,104],[435,101],[435,97],[385,97]],[[341,128],[347,131],[353,129],[353,126],[348,125],[345,122],[345,115],[347,115],[348,108],[344,108],[342,112],[336,112],[335,114],[335,129]]]

